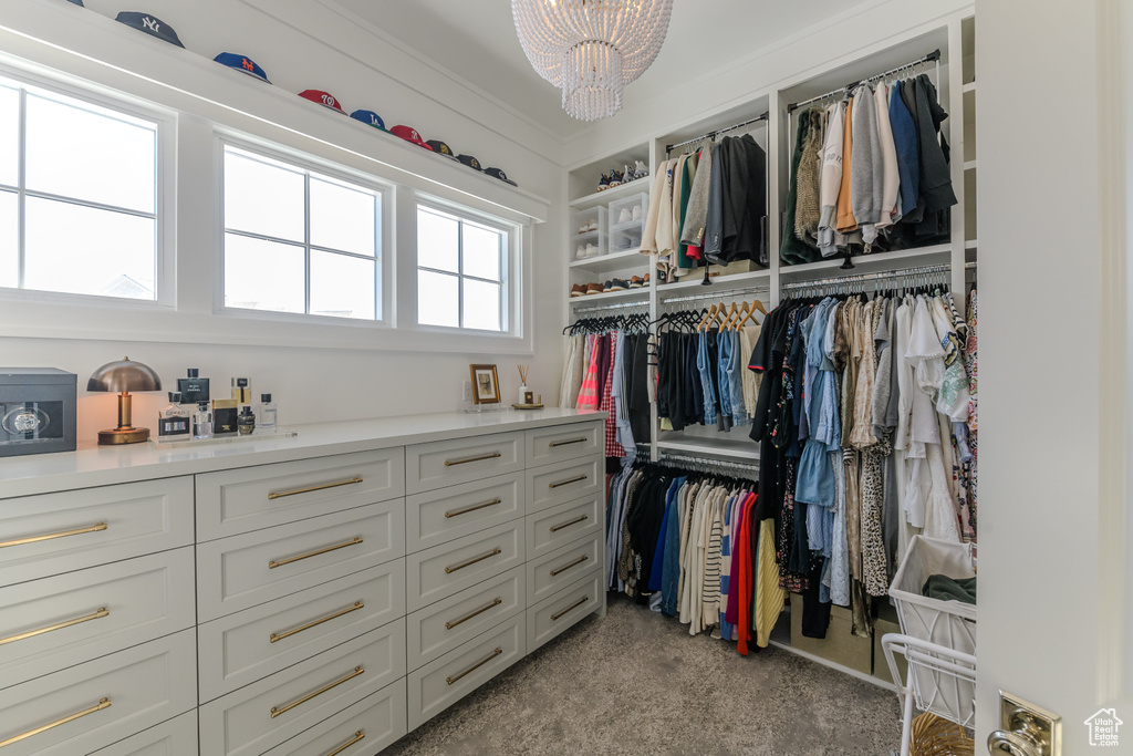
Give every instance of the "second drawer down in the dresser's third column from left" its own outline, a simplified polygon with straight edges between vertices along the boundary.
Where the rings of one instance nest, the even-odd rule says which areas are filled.
[[[522,516],[522,473],[419,493],[406,499],[406,553]]]

